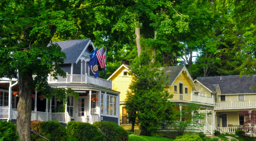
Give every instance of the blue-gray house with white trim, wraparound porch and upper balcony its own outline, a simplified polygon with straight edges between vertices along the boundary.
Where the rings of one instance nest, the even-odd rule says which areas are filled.
[[[93,124],[96,121],[112,121],[120,125],[119,94],[112,89],[112,81],[95,78],[90,73],[87,62],[89,54],[95,49],[90,39],[58,41],[62,52],[66,53],[66,60],[61,64],[67,77],[48,77],[48,83],[52,88],[71,88],[79,93],[79,99],[68,96],[68,102],[64,113],[58,113],[63,107],[53,96],[51,100],[41,98],[42,92],[34,89],[32,97],[31,120],[49,121],[58,120],[61,123],[69,121],[82,121]],[[33,76],[34,78],[35,76]],[[18,78],[0,78],[0,120],[15,121],[18,111],[19,97],[13,93],[18,90]],[[93,101],[93,97],[98,99]]]

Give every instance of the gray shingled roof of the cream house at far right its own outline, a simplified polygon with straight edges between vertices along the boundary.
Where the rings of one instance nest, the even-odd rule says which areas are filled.
[[[219,85],[221,94],[245,94],[256,93],[255,89],[250,89],[251,86],[256,85],[256,75],[248,78],[249,75],[230,75],[230,76],[216,76],[216,77],[197,77],[207,88],[214,89],[214,92]]]

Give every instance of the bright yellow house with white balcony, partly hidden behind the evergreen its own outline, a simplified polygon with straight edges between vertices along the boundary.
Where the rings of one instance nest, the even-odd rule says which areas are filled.
[[[163,69],[165,74],[169,75],[168,85],[164,87],[170,94],[173,94],[170,101],[176,104],[177,110],[182,110],[182,106],[187,105],[187,103],[195,102],[203,107],[200,112],[214,111],[214,95],[200,93],[185,66],[161,67],[160,69]],[[120,124],[125,129],[131,129],[131,125],[126,119],[127,113],[124,107],[126,92],[131,83],[131,76],[128,72],[130,72],[129,66],[122,62],[122,65],[107,79],[112,80],[112,89],[120,92]],[[201,132],[212,135],[214,121],[213,117],[207,117],[205,120],[199,121],[205,123],[206,126],[200,129]],[[139,128],[134,127],[134,129]]]

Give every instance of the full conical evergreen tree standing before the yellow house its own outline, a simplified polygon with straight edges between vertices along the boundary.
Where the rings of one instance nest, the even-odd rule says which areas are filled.
[[[139,58],[131,65],[133,78],[128,90],[125,106],[128,120],[138,122],[141,135],[154,135],[158,122],[173,119],[173,103],[168,99],[171,95],[164,86],[166,76],[159,69],[159,63],[152,63],[152,53],[143,49]]]

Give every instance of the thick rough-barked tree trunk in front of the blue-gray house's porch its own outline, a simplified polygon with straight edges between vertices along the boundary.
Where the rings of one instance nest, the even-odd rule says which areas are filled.
[[[32,72],[27,72],[23,77],[19,75],[17,132],[21,141],[30,141],[32,80]]]

